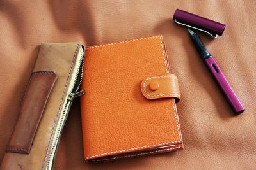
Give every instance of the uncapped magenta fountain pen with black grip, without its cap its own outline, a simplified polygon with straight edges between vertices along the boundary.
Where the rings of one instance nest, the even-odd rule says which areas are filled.
[[[211,72],[212,76],[218,83],[222,92],[225,94],[225,97],[230,103],[230,106],[237,114],[242,113],[245,109],[241,102],[239,101],[238,97],[236,96],[234,90],[228,83],[224,74],[222,73],[217,62],[214,60],[212,55],[207,51],[199,36],[191,29],[188,29],[188,32],[194,45],[196,46],[196,50],[198,50],[200,56],[202,57],[202,59],[204,59],[205,65],[209,68],[209,71]]]

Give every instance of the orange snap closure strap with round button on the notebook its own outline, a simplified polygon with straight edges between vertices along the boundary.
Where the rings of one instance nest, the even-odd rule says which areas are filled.
[[[178,78],[173,74],[147,77],[141,82],[141,92],[147,99],[175,98],[180,100]]]

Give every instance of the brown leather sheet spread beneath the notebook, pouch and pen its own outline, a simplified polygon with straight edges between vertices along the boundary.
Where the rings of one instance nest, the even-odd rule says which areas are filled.
[[[19,116],[20,101],[41,42],[86,45],[163,34],[171,72],[179,78],[177,104],[184,150],[88,164],[83,161],[79,103],[61,136],[55,169],[170,169],[256,167],[256,1],[1,1],[0,162]],[[184,27],[170,21],[176,8],[227,25],[202,40],[244,104],[234,116]],[[100,142],[100,141],[99,141]]]

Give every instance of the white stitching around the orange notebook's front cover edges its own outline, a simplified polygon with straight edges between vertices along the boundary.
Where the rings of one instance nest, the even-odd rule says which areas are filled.
[[[163,53],[165,71],[166,71],[166,73],[168,74],[167,62],[166,62],[165,55],[164,55],[164,48],[163,48],[163,39],[162,39],[162,36],[152,36],[152,37],[148,37],[148,38],[138,38],[138,39],[132,39],[132,40],[127,40],[127,41],[120,41],[120,42],[117,42],[117,43],[109,43],[109,44],[106,44],[106,45],[90,46],[90,47],[87,47],[86,49],[90,49],[90,48],[99,48],[99,47],[102,47],[102,46],[116,45],[116,44],[120,44],[120,43],[129,43],[129,42],[132,42],[132,41],[138,41],[138,40],[143,40],[143,39],[151,39],[151,38],[159,38],[160,41],[161,41],[161,44],[160,44],[160,45],[161,45],[162,53]],[[173,99],[173,100],[174,100],[174,99]],[[175,108],[175,104],[174,104],[174,103],[173,103],[173,108]],[[175,109],[174,109],[174,111],[175,111]],[[176,115],[175,115],[175,122],[176,122],[176,125],[178,125]],[[150,146],[170,145],[170,144],[173,144],[173,143],[180,143],[181,139],[180,139],[180,131],[179,131],[179,127],[178,127],[178,126],[177,126],[177,131],[178,131],[178,134],[179,134],[179,141],[172,141],[172,142],[170,142],[170,143],[160,143],[160,144],[156,144],[156,145],[141,146],[141,147],[130,148],[130,149],[126,149],[126,150],[120,150],[120,151],[114,151],[114,152],[108,152],[108,153],[101,153],[101,154],[99,154],[99,155],[93,155],[93,156],[90,156],[90,157],[86,157],[85,160],[92,159],[92,158],[94,158],[94,157],[99,157],[99,156],[102,156],[102,155],[108,155],[108,154],[113,154],[113,153],[122,153],[122,152],[126,152],[126,151],[131,151],[131,150],[138,150],[138,149],[140,149],[140,148],[148,148],[148,147],[150,147]]]

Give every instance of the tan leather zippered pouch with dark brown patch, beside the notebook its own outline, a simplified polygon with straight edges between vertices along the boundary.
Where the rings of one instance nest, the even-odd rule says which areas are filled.
[[[52,169],[83,63],[82,43],[42,43],[1,169]]]

